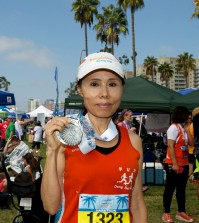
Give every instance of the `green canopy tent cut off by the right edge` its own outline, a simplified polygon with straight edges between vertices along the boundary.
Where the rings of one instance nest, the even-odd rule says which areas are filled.
[[[192,111],[195,107],[199,106],[199,89],[189,94],[183,95],[179,99],[175,99],[173,104],[175,106],[186,106],[190,111]]]

